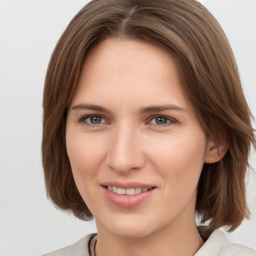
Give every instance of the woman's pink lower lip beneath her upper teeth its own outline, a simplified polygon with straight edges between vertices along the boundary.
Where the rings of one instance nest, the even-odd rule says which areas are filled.
[[[109,191],[105,186],[102,186],[105,197],[108,201],[115,206],[122,208],[132,208],[135,207],[142,202],[144,202],[150,195],[152,195],[155,188],[147,190],[145,192],[141,192],[133,195],[125,195],[125,194],[117,194],[112,191]]]

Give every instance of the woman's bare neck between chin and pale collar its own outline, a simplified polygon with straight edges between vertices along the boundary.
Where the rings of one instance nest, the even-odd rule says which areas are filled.
[[[127,238],[106,233],[98,226],[96,256],[194,255],[202,246],[195,221],[170,224],[144,237]]]

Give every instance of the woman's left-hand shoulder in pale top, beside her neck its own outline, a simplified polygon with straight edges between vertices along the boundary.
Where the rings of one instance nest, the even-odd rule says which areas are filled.
[[[46,253],[42,256],[89,256],[90,240],[95,235],[95,233],[87,234],[72,245],[66,246],[59,250],[55,250],[53,252]]]

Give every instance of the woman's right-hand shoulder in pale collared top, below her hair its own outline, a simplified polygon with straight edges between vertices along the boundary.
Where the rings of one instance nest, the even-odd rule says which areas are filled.
[[[256,252],[241,244],[231,243],[224,232],[214,230],[194,256],[256,256]]]

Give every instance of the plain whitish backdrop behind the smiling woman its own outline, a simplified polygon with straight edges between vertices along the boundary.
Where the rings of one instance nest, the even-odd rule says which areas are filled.
[[[40,158],[42,90],[51,52],[85,0],[0,0],[0,256],[40,255],[95,232],[95,224],[47,200]],[[256,114],[256,0],[201,0],[233,48]],[[255,152],[251,165],[255,168]],[[231,241],[256,249],[256,177],[248,179],[250,220]]]

